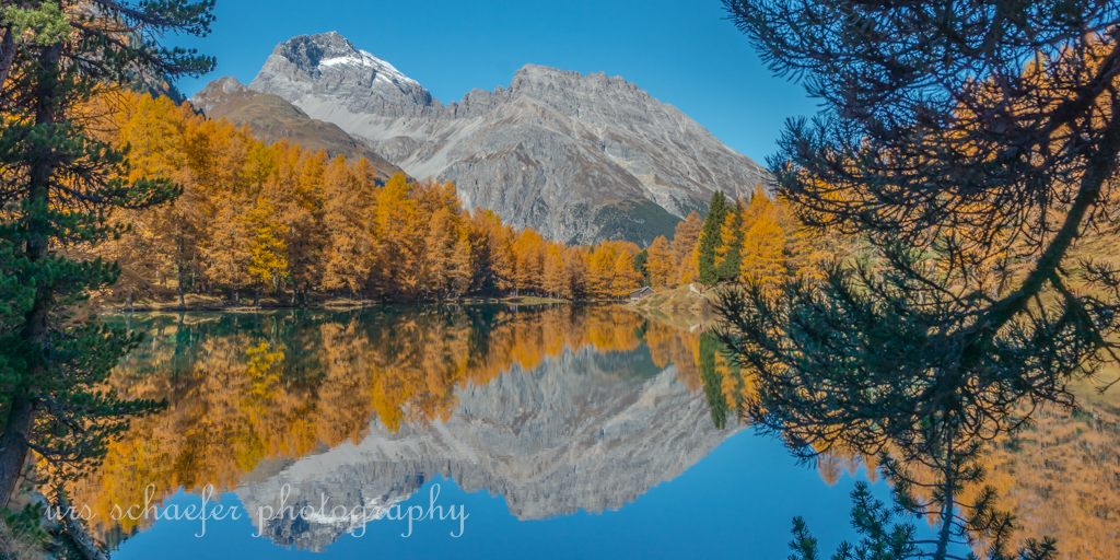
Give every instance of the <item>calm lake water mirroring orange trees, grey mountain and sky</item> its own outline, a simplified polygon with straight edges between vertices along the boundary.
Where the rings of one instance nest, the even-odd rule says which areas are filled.
[[[75,494],[116,559],[781,559],[796,515],[828,556],[858,538],[857,480],[889,502],[858,461],[717,427],[701,329],[624,308],[120,320],[148,338],[113,384],[169,407]],[[990,479],[1024,534],[1116,558],[1120,410],[1086,399],[1002,442]]]

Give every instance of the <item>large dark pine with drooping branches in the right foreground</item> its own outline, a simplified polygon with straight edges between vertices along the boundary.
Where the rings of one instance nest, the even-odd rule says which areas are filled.
[[[1051,541],[1014,550],[992,492],[964,491],[982,482],[984,441],[1024,411],[1072,405],[1071,381],[1120,363],[1120,271],[1070,258],[1117,226],[1120,6],[725,3],[822,106],[788,122],[769,160],[778,198],[811,231],[867,246],[821,278],[722,302],[725,343],[755,383],[745,413],[808,455],[889,449],[894,512],[937,520],[935,540],[914,541],[857,493],[865,539],[833,558],[952,558],[977,539],[991,541],[978,557],[1054,558]],[[905,463],[939,470],[932,497],[907,492]]]

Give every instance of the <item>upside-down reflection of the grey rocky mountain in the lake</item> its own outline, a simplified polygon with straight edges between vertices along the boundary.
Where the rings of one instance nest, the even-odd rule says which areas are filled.
[[[690,392],[673,367],[656,372],[648,351],[568,352],[467,388],[458,400],[447,422],[394,433],[375,421],[362,444],[267,473],[237,494],[255,515],[261,506],[279,510],[289,484],[286,505],[297,512],[326,496],[330,507],[365,505],[381,517],[439,474],[467,492],[502,494],[522,520],[603,512],[675,478],[738,431],[715,428],[703,393]],[[278,544],[316,550],[358,525],[297,516],[258,529]]]

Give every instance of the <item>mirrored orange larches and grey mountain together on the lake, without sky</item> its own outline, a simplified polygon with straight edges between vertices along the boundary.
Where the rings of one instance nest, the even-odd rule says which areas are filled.
[[[388,508],[441,475],[502,494],[519,519],[624,506],[738,431],[710,419],[700,337],[618,307],[401,307],[132,318],[148,342],[114,375],[138,419],[78,498],[106,520],[179,487],[246,511]],[[255,522],[255,521],[254,521]],[[143,522],[101,532],[116,541]],[[159,522],[157,522],[159,523]],[[352,528],[276,519],[319,550]]]

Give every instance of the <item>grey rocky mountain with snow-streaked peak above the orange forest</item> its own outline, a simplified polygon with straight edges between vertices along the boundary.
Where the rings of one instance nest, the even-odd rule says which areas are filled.
[[[716,189],[749,195],[768,175],[684,113],[622,77],[529,65],[508,88],[444,105],[336,32],[273,50],[250,87],[332,122],[417,178],[551,239],[671,236]]]

